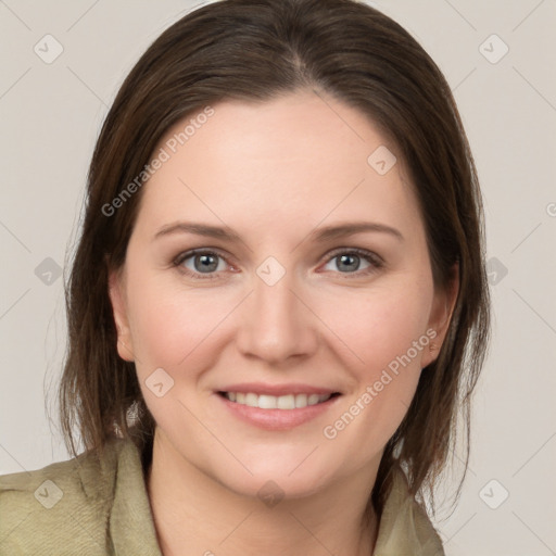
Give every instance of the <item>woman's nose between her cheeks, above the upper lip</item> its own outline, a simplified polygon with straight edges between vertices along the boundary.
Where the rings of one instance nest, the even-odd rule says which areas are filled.
[[[319,320],[290,273],[274,286],[255,276],[239,319],[236,342],[247,357],[277,365],[309,356],[317,349]]]

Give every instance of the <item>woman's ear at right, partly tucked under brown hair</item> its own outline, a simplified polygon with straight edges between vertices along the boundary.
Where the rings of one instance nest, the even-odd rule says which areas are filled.
[[[431,338],[431,341],[428,351],[424,352],[421,368],[430,365],[439,356],[450,328],[452,315],[454,314],[458,292],[459,264],[455,263],[451,268],[450,280],[446,287],[434,292],[428,330],[433,330],[435,336],[432,336],[432,333],[430,336],[427,334]]]

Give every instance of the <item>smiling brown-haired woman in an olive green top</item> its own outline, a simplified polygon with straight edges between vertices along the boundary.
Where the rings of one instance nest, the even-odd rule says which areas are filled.
[[[481,198],[389,17],[169,27],[99,137],[67,314],[75,457],[1,478],[3,553],[443,554],[422,495],[488,341]]]

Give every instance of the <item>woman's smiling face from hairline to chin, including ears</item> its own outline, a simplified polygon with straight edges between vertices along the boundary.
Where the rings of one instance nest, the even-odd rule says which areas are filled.
[[[111,275],[119,355],[184,469],[245,495],[370,477],[455,296],[433,287],[402,161],[311,92],[213,110],[155,151]]]

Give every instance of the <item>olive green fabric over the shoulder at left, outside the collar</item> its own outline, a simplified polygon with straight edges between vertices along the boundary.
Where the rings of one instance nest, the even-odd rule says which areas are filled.
[[[0,553],[110,554],[106,523],[117,459],[126,442],[110,441],[42,469],[0,476]]]

